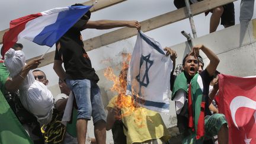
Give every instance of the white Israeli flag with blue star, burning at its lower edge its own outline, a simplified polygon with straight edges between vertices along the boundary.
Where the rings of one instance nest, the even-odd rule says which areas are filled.
[[[142,107],[169,113],[172,60],[158,41],[137,34],[127,75],[127,95]]]

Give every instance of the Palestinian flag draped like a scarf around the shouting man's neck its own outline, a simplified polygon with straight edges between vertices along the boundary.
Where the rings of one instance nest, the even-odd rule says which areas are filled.
[[[188,127],[196,134],[196,139],[204,135],[204,107],[205,96],[203,95],[203,81],[197,73],[187,84],[184,72],[177,76],[172,90],[172,100],[178,90],[183,89],[188,98]]]

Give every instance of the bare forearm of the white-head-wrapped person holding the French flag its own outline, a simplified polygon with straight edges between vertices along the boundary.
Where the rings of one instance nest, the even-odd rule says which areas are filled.
[[[17,89],[23,83],[24,78],[27,76],[28,72],[31,69],[36,69],[37,66],[39,66],[39,64],[41,63],[40,60],[42,59],[43,58],[31,60],[30,62],[27,63],[27,65],[23,67],[23,69],[21,69],[18,75],[14,76],[14,78],[12,79],[8,78],[7,82],[5,82],[5,89],[7,89],[7,91],[9,92],[17,91]]]

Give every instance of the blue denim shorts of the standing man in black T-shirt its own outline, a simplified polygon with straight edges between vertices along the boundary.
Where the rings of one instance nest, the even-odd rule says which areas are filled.
[[[92,116],[94,123],[98,120],[105,121],[104,106],[97,82],[89,79],[66,79],[66,84],[75,95],[78,105],[77,119],[91,120]]]

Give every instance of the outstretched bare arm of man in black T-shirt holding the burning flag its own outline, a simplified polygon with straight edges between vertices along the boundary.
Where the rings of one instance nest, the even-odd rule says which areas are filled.
[[[130,27],[130,28],[137,28],[137,30],[140,30],[141,25],[138,21],[98,20],[98,21],[88,21],[83,28],[84,29],[96,28],[99,30],[106,30],[106,29],[116,28],[116,27]]]

